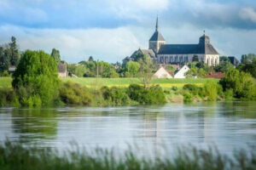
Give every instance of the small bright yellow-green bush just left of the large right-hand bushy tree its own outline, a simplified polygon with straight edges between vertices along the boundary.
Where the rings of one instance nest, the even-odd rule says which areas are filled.
[[[216,82],[208,81],[203,86],[203,94],[209,101],[215,101],[218,98],[218,84]]]

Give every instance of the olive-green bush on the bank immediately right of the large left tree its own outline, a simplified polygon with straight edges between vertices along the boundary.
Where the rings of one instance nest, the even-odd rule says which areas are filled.
[[[59,91],[61,101],[67,105],[90,105],[92,100],[87,88],[73,82],[62,83]]]

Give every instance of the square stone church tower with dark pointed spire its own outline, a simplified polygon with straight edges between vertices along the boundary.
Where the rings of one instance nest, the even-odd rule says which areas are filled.
[[[166,44],[166,40],[158,31],[158,17],[157,17],[154,34],[149,39],[149,49],[153,49],[154,53],[157,54],[160,49],[160,45],[162,44]]]

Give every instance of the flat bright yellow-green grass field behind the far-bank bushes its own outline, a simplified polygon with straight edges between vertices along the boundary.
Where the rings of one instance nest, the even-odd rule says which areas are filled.
[[[184,84],[193,83],[201,86],[203,83],[208,80],[218,82],[218,79],[206,79],[206,78],[186,78],[186,79],[153,79],[152,84],[160,84],[163,88],[172,88],[172,86],[183,87]],[[0,77],[0,87],[9,87],[11,86],[11,77]],[[119,87],[128,87],[130,84],[138,83],[141,84],[142,80],[139,78],[61,78],[61,81],[67,82],[76,82],[84,86],[119,86]]]

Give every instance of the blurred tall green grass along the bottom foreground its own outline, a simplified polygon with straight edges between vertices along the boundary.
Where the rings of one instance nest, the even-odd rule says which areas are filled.
[[[218,150],[197,150],[183,147],[173,155],[156,156],[154,159],[137,156],[135,151],[119,153],[118,150],[94,151],[77,149],[58,150],[39,147],[23,147],[19,143],[5,142],[0,145],[1,170],[51,170],[51,169],[90,169],[90,170],[242,170],[255,169],[255,151],[236,152],[230,156],[222,155]]]

